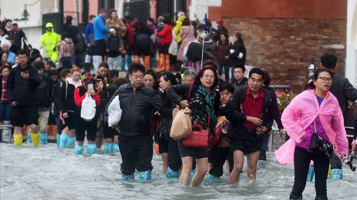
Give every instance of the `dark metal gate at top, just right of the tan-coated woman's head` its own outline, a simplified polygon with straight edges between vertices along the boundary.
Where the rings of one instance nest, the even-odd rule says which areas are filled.
[[[134,0],[124,3],[124,16],[137,17],[139,21],[145,22],[150,17],[150,1]]]

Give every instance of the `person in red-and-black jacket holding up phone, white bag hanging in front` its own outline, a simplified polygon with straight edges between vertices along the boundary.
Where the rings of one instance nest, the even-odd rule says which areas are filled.
[[[96,106],[100,105],[99,93],[93,90],[93,76],[89,72],[81,73],[82,85],[74,91],[74,101],[76,102],[75,123],[76,123],[76,141],[74,154],[83,153],[83,142],[85,132],[87,131],[87,155],[97,153],[97,146],[94,143],[97,132],[98,115],[96,114],[91,121],[85,121],[81,118],[82,101],[88,94],[95,100]]]

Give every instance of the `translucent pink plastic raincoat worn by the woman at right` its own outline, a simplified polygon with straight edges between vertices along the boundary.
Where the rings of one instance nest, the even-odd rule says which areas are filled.
[[[315,90],[297,95],[284,110],[281,121],[290,139],[275,151],[280,164],[294,165],[295,142],[300,143],[305,129],[319,116],[330,142],[341,155],[348,154],[348,141],[338,101],[330,91],[318,105]],[[311,161],[312,164],[312,161]]]

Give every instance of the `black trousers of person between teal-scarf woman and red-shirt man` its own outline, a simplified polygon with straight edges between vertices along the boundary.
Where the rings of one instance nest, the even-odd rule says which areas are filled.
[[[234,167],[233,153],[230,153],[229,147],[223,148],[213,148],[210,151],[210,161],[212,163],[212,168],[210,174],[216,177],[221,177],[223,175],[223,165],[228,159],[229,163],[229,173],[231,174]]]

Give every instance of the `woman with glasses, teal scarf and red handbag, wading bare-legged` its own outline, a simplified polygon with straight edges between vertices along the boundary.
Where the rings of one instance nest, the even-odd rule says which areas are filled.
[[[191,84],[192,88],[191,88]],[[199,124],[203,130],[210,129],[210,134],[216,134],[217,116],[220,109],[220,93],[215,90],[218,84],[216,69],[212,66],[203,67],[192,83],[173,85],[167,90],[167,95],[183,109],[188,105],[191,110],[191,123]],[[191,88],[191,94],[190,94]],[[188,96],[190,95],[190,99]],[[210,123],[208,127],[208,117]],[[192,178],[191,187],[198,187],[205,174],[208,165],[208,149],[191,148],[182,145],[182,140],[177,141],[182,160],[182,173],[180,183],[188,185],[190,173],[192,172],[192,161],[196,158],[197,172]]]

